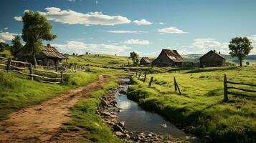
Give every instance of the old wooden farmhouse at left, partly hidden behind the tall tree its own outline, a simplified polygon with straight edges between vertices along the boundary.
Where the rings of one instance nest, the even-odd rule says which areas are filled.
[[[31,55],[24,54],[22,48],[18,49],[14,53],[14,57],[21,61],[33,61],[33,57]],[[47,44],[47,46],[42,46],[42,51],[37,54],[37,64],[42,66],[60,64],[63,59],[67,59],[67,56],[57,51],[57,49],[55,49],[50,44]]]

